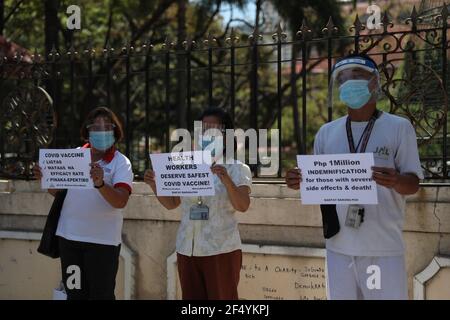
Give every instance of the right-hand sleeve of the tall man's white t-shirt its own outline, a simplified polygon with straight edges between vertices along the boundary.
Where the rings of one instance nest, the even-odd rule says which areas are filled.
[[[416,132],[412,124],[407,120],[402,122],[399,131],[399,142],[394,155],[394,162],[395,168],[401,174],[412,173],[419,179],[424,178],[417,149]]]

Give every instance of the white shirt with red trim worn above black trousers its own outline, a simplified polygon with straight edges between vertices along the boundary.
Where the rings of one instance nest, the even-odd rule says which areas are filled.
[[[133,172],[127,157],[114,151],[98,161],[105,184],[131,193]],[[68,240],[117,246],[122,242],[122,209],[112,207],[97,189],[69,189],[56,234]]]

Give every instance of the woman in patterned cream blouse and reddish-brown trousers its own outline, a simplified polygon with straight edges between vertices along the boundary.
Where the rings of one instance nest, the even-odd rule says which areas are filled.
[[[222,134],[233,129],[229,114],[220,108],[207,109],[200,117],[203,128],[216,128]],[[200,139],[202,149],[211,137]],[[219,140],[218,140],[219,141]],[[226,142],[213,157],[220,162],[226,153]],[[216,149],[216,150],[217,150]],[[237,287],[242,266],[241,238],[235,213],[247,211],[250,205],[252,175],[250,168],[233,159],[211,167],[215,196],[160,197],[159,202],[173,210],[181,205],[182,219],[178,229],[176,251],[182,296],[192,299],[238,299]],[[156,194],[155,174],[147,170],[144,181]],[[199,201],[200,200],[200,201]],[[208,214],[193,213],[198,204],[207,207]],[[194,210],[195,211],[195,210]]]

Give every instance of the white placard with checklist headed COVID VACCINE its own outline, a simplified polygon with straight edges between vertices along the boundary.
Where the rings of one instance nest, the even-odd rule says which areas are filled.
[[[91,189],[90,149],[40,149],[42,189]]]

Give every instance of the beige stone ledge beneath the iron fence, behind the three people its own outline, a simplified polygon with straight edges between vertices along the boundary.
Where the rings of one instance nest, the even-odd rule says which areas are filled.
[[[46,193],[0,193],[0,214],[45,216],[52,196]],[[252,198],[248,212],[237,213],[240,223],[249,225],[321,227],[319,206],[301,205],[294,198]],[[450,233],[448,203],[408,202],[405,230]],[[125,211],[126,220],[180,221],[180,209],[168,211],[154,195],[134,194]]]

